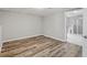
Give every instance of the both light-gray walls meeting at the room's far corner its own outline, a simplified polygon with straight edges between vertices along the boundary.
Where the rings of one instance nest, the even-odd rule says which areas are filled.
[[[47,17],[0,12],[0,24],[3,41],[41,34],[65,40],[64,12],[62,11]]]

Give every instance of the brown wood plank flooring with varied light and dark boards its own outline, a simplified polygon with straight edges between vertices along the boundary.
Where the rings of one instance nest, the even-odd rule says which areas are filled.
[[[40,35],[6,42],[0,57],[81,57],[81,46]]]

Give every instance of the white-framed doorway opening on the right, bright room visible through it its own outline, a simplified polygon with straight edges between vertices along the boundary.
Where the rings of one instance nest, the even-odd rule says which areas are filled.
[[[83,45],[83,10],[74,10],[65,13],[67,42]]]

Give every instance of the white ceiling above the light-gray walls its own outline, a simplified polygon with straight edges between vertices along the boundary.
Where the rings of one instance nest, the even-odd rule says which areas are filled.
[[[10,11],[19,13],[31,13],[36,15],[48,15],[58,11],[65,11],[69,8],[0,8],[0,11]]]

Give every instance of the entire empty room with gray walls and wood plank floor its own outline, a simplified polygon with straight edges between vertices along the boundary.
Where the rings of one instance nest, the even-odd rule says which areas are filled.
[[[0,8],[0,57],[86,57],[86,8]]]

